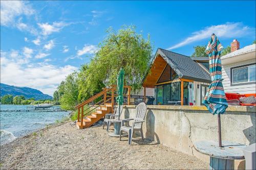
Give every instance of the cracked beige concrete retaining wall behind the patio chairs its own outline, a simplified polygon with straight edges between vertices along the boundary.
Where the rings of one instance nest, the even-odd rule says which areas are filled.
[[[147,106],[146,121],[143,124],[144,137],[209,161],[209,157],[198,153],[193,145],[199,140],[218,141],[217,115],[212,115],[201,107],[196,107],[197,110],[193,108]],[[227,109],[221,115],[222,140],[246,145],[255,143],[255,107],[247,111],[241,111],[238,107],[231,107],[229,110],[231,111]],[[125,106],[121,116],[134,117],[135,106]]]

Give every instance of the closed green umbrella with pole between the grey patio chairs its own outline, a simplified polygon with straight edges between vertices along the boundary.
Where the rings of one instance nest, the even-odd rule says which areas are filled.
[[[120,119],[120,105],[123,105],[123,80],[124,80],[124,69],[121,68],[119,70],[119,74],[118,74],[118,77],[117,77],[117,93],[118,93],[118,96],[116,98],[116,101],[119,105],[118,120]]]

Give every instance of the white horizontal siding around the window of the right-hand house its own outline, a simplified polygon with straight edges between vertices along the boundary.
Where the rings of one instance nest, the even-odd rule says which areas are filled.
[[[255,93],[255,82],[251,84],[245,84],[245,85],[232,85],[231,86],[231,75],[230,75],[230,68],[232,67],[237,67],[237,66],[242,66],[246,64],[253,64],[256,62],[256,59],[249,59],[249,60],[244,60],[240,62],[234,62],[231,64],[225,64],[222,65],[222,81],[223,87],[225,92],[228,93],[241,93],[241,94],[250,94],[250,93]]]

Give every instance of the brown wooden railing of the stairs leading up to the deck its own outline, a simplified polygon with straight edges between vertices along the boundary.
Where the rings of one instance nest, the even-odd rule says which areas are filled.
[[[130,105],[131,104],[131,86],[123,86],[123,88],[127,88],[127,94],[123,94],[124,96],[127,96],[127,103],[124,103],[124,105]],[[96,109],[100,105],[105,105],[106,103],[111,104],[111,112],[114,113],[114,105],[115,105],[115,97],[117,96],[116,93],[116,85],[111,85],[111,88],[103,88],[101,92],[98,94],[92,96],[90,99],[82,102],[81,104],[75,106],[76,109],[78,109],[77,114],[77,122],[81,122],[81,128],[83,126],[83,117],[84,115],[87,115],[92,110],[90,108],[94,107]],[[101,98],[101,100],[100,100]],[[92,104],[89,108],[84,110],[85,105],[89,105],[90,103],[94,102],[95,100],[99,100],[95,104]],[[85,113],[85,114],[84,114]],[[81,120],[80,120],[81,117]]]

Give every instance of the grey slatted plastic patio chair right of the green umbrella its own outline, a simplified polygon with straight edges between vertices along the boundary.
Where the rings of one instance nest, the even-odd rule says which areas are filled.
[[[129,134],[128,143],[130,145],[132,144],[132,138],[133,138],[133,132],[134,131],[140,131],[141,138],[142,138],[142,140],[144,140],[143,131],[142,131],[142,124],[145,121],[144,119],[145,119],[145,115],[146,115],[146,104],[143,103],[143,102],[140,103],[136,107],[135,112],[136,112],[135,118],[122,119],[121,128],[120,128],[119,140],[121,140],[122,131],[128,132],[128,134]],[[134,120],[134,122],[132,123],[132,126],[124,126],[124,123],[129,122],[130,120]]]

